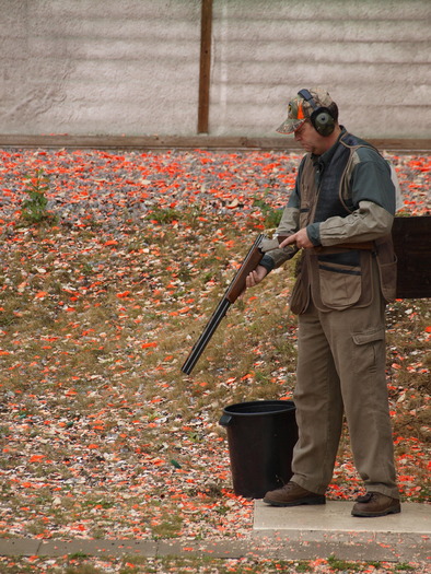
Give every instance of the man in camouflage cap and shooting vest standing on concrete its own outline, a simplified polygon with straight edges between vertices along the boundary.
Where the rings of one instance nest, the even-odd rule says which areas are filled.
[[[321,89],[301,90],[278,128],[307,152],[261,263],[257,285],[302,250],[291,309],[299,315],[294,402],[299,441],[293,476],[264,502],[324,504],[346,414],[354,464],[366,490],[354,516],[400,512],[385,376],[385,303],[395,295],[391,167],[338,124]],[[273,244],[279,244],[275,247]]]

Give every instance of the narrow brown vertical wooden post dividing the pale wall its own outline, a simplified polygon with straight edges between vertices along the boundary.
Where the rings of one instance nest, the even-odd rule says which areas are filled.
[[[208,133],[211,75],[212,0],[202,0],[200,16],[200,70],[198,133]]]

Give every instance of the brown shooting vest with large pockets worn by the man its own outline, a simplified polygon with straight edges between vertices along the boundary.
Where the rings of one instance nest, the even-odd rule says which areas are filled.
[[[314,165],[311,154],[305,156],[300,176],[301,229],[330,216],[347,216],[357,209],[350,180],[358,161],[354,152],[363,147],[372,148],[350,133],[342,134],[319,181],[318,164]],[[375,272],[380,273],[383,297],[386,301],[395,298],[396,258],[392,236],[356,246],[352,249],[337,246],[303,249],[290,303],[293,313],[304,313],[310,297],[323,312],[365,307],[380,296],[373,292]]]

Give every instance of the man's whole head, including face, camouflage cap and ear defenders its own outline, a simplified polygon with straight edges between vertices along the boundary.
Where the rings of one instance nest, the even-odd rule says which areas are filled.
[[[305,151],[322,155],[338,139],[338,106],[326,90],[301,90],[289,103],[287,120],[277,129],[294,133]]]

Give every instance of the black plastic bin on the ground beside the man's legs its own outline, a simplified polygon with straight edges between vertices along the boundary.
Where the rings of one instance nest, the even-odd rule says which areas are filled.
[[[293,446],[298,441],[295,406],[291,400],[238,402],[223,409],[233,490],[247,499],[261,499],[292,476]]]

